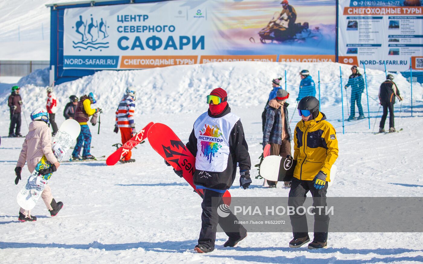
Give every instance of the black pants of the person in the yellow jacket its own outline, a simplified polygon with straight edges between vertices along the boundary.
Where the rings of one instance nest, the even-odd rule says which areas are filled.
[[[289,191],[288,206],[294,206],[295,214],[290,215],[292,233],[294,238],[308,236],[307,217],[306,214],[298,214],[297,207],[302,206],[307,197],[307,192],[310,191],[313,196],[313,206],[327,206],[326,192],[327,184],[320,190],[314,187],[313,181],[303,181],[297,178],[292,178],[291,190]],[[324,230],[325,232],[314,232],[313,241],[326,242],[327,231],[329,229],[329,216],[325,214],[325,210],[321,209],[321,214],[318,210],[313,211],[314,215],[314,230]]]

